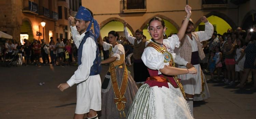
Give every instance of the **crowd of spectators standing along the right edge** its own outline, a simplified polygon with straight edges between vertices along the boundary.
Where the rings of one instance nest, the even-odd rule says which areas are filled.
[[[222,81],[243,88],[252,84],[256,89],[256,26],[245,31],[228,29],[224,34],[214,31],[212,38],[202,43],[205,60],[201,61],[204,72],[210,72],[208,81]],[[208,64],[208,65],[205,65]],[[252,81],[248,75],[252,72]],[[214,77],[217,75],[217,78]],[[223,75],[223,78],[220,77]]]

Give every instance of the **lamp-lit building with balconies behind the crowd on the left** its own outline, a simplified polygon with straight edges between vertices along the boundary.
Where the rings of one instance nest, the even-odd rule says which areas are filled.
[[[81,0],[1,0],[0,31],[17,41],[44,38],[49,43],[50,37],[55,41],[56,38],[70,39],[68,16],[72,16],[80,5]]]

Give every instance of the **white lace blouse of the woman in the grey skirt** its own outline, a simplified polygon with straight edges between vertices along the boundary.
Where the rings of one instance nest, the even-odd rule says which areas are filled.
[[[112,47],[112,45],[111,44],[108,44],[108,43],[106,43],[106,42],[103,42],[103,44],[102,44],[102,46],[103,46],[103,50],[109,50],[110,49],[110,47]],[[121,45],[121,44],[117,44],[117,45],[115,45],[115,47],[114,48],[112,48],[112,51],[110,51],[111,53],[111,57],[117,57],[117,59],[116,60],[120,60],[120,55],[121,54],[125,54],[125,49],[124,49],[124,46],[123,45]]]

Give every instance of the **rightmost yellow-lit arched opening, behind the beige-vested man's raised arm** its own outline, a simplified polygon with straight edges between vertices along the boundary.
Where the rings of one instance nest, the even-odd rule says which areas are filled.
[[[232,28],[224,19],[222,19],[218,16],[211,15],[211,16],[207,17],[207,19],[213,25],[214,30],[217,31],[218,34],[222,35],[223,33],[227,32],[227,29]],[[201,22],[197,26],[195,31],[204,31],[204,23]]]

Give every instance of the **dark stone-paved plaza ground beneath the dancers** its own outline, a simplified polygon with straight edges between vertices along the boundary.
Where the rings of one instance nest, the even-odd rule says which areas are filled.
[[[109,66],[103,65],[103,79]],[[76,86],[61,92],[76,66],[0,67],[0,119],[71,119]],[[133,75],[132,66],[128,67]],[[206,75],[209,77],[209,75]],[[44,82],[44,85],[39,83]],[[211,98],[194,102],[196,119],[256,119],[256,91],[208,83]]]

